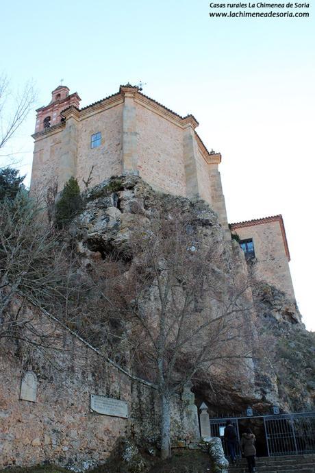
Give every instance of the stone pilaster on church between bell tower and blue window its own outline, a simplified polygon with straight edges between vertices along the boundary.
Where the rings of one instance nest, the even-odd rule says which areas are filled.
[[[58,193],[64,189],[64,184],[75,177],[77,166],[77,123],[79,110],[75,107],[64,112],[66,127],[62,132],[61,155],[58,166]]]

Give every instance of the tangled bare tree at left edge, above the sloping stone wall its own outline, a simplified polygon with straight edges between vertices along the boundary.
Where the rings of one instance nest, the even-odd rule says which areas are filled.
[[[70,290],[66,282],[77,276],[70,246],[48,225],[42,203],[26,191],[0,202],[0,339],[23,339],[26,326],[32,332],[27,300],[54,315],[63,313]],[[71,289],[76,291],[75,282]]]

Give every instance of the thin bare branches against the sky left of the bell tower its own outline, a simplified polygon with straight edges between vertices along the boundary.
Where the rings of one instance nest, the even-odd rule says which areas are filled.
[[[35,100],[36,90],[33,82],[27,82],[23,90],[14,95],[10,90],[8,77],[0,75],[0,149],[21,127]]]

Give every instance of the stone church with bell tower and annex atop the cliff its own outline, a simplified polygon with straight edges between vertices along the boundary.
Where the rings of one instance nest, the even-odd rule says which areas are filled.
[[[205,147],[193,115],[181,117],[130,84],[81,109],[79,95],[69,92],[58,86],[36,110],[31,191],[55,181],[60,192],[71,176],[82,186],[93,167],[92,185],[134,174],[157,191],[203,199],[218,214],[225,239],[238,234],[246,258],[255,258],[256,278],[294,300],[281,215],[228,224],[221,155]]]

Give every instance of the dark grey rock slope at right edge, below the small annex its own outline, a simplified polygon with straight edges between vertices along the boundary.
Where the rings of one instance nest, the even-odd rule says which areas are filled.
[[[266,356],[256,365],[262,395],[273,391],[285,411],[314,409],[315,333],[305,330],[296,304],[275,287],[257,284],[253,298],[258,334],[266,341]]]

